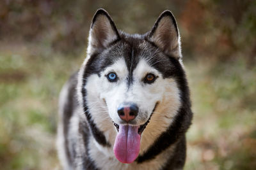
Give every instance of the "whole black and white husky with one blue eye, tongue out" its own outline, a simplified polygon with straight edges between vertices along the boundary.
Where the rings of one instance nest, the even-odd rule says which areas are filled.
[[[64,169],[182,169],[193,113],[179,30],[164,11],[146,34],[92,20],[87,56],[60,94]]]

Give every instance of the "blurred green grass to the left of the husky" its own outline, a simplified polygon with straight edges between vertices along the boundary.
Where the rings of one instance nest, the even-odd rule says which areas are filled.
[[[58,164],[58,94],[79,64],[45,49],[34,55],[29,48],[36,46],[19,46],[16,51],[1,45],[0,169],[52,169]]]

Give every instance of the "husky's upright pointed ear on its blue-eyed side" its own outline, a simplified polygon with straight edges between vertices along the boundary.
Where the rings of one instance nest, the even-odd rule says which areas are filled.
[[[87,53],[91,55],[100,51],[119,38],[116,26],[108,12],[104,9],[97,10],[92,20]]]

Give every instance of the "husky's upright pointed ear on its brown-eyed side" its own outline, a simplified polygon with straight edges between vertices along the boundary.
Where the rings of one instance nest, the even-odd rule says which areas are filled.
[[[163,11],[157,19],[148,40],[157,45],[164,53],[177,59],[182,57],[179,30],[171,11]]]

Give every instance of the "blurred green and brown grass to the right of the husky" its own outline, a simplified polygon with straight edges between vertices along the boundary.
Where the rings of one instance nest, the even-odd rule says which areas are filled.
[[[195,113],[186,169],[255,169],[256,67],[243,56],[229,62],[189,62]]]

